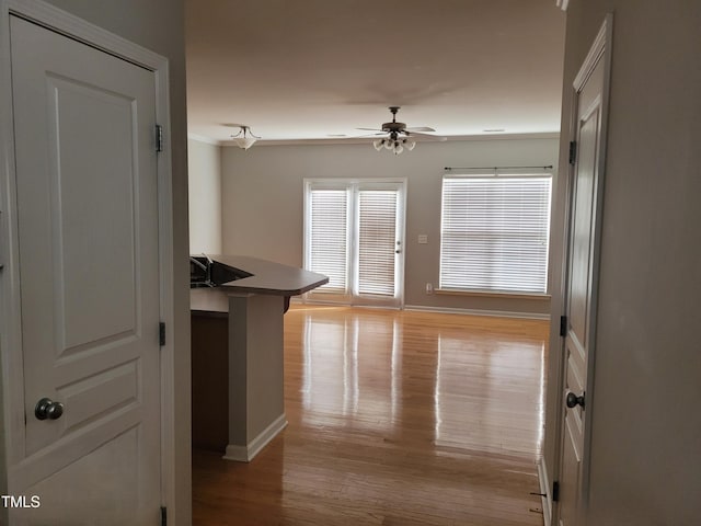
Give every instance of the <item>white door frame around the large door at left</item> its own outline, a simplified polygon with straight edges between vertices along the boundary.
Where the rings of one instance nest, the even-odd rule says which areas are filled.
[[[160,351],[161,377],[161,505],[175,510],[179,459],[175,456],[174,304],[173,304],[173,188],[170,141],[169,62],[149,49],[110,33],[41,0],[0,0],[0,26],[9,28],[16,15],[110,55],[140,66],[156,77],[156,119],[163,129],[158,156],[159,306],[165,322],[165,345]],[[9,471],[24,458],[24,392],[20,317],[16,173],[11,85],[10,32],[0,33],[0,491],[12,491]],[[156,130],[154,130],[156,134]],[[153,141],[156,147],[156,140]],[[189,481],[187,481],[189,483]],[[7,522],[0,508],[0,523]],[[171,518],[176,518],[172,514]],[[184,522],[183,522],[184,524]]]

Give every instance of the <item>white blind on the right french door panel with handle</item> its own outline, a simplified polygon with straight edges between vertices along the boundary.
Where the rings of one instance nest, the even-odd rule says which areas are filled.
[[[397,191],[358,193],[358,294],[394,296]]]

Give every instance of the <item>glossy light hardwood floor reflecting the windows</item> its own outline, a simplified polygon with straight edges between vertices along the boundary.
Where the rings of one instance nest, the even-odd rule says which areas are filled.
[[[542,525],[548,322],[341,307],[285,315],[289,425],[252,462],[193,453],[193,521]]]

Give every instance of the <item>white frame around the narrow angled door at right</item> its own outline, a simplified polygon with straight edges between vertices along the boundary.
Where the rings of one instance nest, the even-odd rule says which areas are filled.
[[[579,110],[579,92],[582,91],[584,84],[589,79],[591,72],[595,67],[599,64],[600,60],[604,60],[604,84],[601,90],[601,122],[600,122],[600,133],[598,138],[598,162],[597,162],[597,179],[596,179],[596,187],[594,188],[594,210],[593,210],[593,238],[591,238],[591,279],[590,279],[590,289],[589,289],[589,313],[588,313],[588,327],[587,331],[587,342],[588,342],[588,352],[587,352],[587,379],[585,382],[585,392],[586,392],[586,411],[584,412],[584,444],[582,449],[582,485],[581,485],[581,494],[579,494],[579,513],[587,508],[588,498],[589,498],[589,477],[590,477],[590,466],[589,466],[589,451],[591,450],[591,415],[593,415],[593,398],[594,398],[594,374],[595,374],[595,363],[596,363],[596,329],[597,329],[597,310],[598,310],[598,283],[599,283],[599,267],[600,267],[600,248],[601,248],[601,219],[604,211],[604,183],[606,179],[606,150],[608,144],[608,114],[609,114],[609,102],[610,102],[610,82],[611,82],[611,42],[613,36],[613,14],[607,14],[601,27],[599,28],[598,34],[596,35],[589,52],[582,62],[579,71],[575,77],[572,83],[572,104],[570,107],[570,129],[568,129],[568,141],[577,141],[578,140],[578,110]],[[564,235],[564,243],[563,243],[563,265],[562,265],[562,282],[561,282],[561,295],[560,295],[560,306],[562,308],[562,316],[565,315],[568,305],[570,297],[570,258],[571,258],[571,244],[572,239],[570,237],[570,228],[572,225],[572,213],[573,213],[573,198],[574,198],[574,178],[576,175],[575,171],[576,164],[570,163],[567,170],[567,182],[566,182],[566,209],[565,209],[565,235]],[[552,319],[551,323],[560,325],[560,320]],[[561,335],[556,345],[553,345],[553,348],[558,348],[559,353],[555,355],[559,361],[558,364],[558,381],[556,386],[553,386],[554,389],[551,391],[552,397],[556,397],[556,410],[553,412],[553,415],[556,416],[554,424],[552,424],[556,428],[555,433],[555,455],[554,455],[554,466],[553,473],[555,480],[559,481],[562,476],[562,455],[563,455],[563,436],[564,436],[564,398],[562,396],[563,386],[564,386],[564,375],[566,364],[562,359],[564,356],[564,345],[565,345],[565,336]],[[559,507],[552,506],[552,488],[548,488],[548,498],[544,499],[544,504],[548,504],[547,507],[551,510],[552,524],[559,524],[560,521],[560,510]],[[582,516],[578,517],[579,521]]]

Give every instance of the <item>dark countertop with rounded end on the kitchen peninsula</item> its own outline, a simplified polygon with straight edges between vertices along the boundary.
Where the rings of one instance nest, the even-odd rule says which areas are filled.
[[[298,296],[329,282],[329,277],[296,266],[283,265],[249,255],[207,254],[214,261],[253,274],[214,288],[193,288],[191,311],[229,312],[231,294]]]

